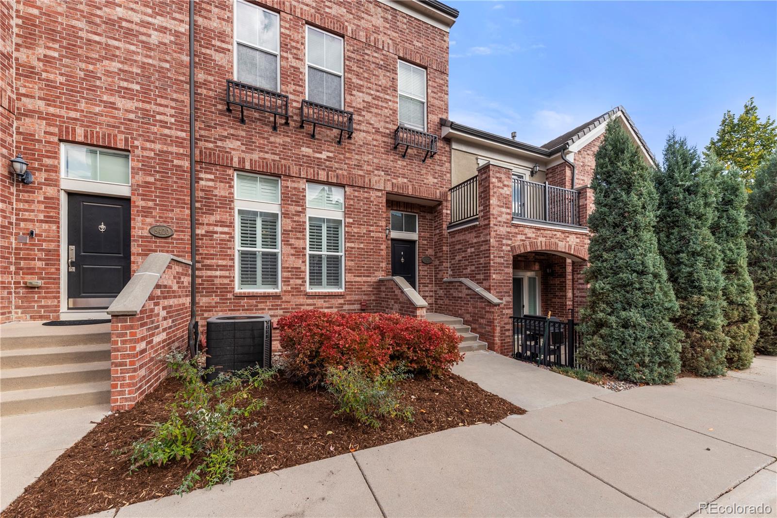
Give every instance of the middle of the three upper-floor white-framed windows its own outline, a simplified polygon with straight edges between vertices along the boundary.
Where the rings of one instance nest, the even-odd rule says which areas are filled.
[[[343,109],[343,38],[307,26],[306,98]]]

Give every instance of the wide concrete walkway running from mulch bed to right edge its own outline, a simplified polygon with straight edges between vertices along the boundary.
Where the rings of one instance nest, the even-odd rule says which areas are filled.
[[[487,352],[455,372],[534,410],[95,516],[777,516],[775,359],[620,393]]]

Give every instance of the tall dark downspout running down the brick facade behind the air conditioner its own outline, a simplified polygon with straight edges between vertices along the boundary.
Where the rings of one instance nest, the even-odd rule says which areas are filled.
[[[189,233],[191,252],[191,319],[189,351],[200,352],[200,324],[197,322],[197,208],[194,197],[194,0],[189,2]]]

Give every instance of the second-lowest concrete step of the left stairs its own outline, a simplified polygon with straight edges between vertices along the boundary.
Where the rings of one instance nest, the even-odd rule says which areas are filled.
[[[110,362],[69,363],[0,370],[0,391],[110,381]]]

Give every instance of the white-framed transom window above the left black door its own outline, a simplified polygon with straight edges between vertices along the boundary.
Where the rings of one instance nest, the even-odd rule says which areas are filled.
[[[130,184],[130,154],[89,145],[62,144],[61,175],[75,180]]]

